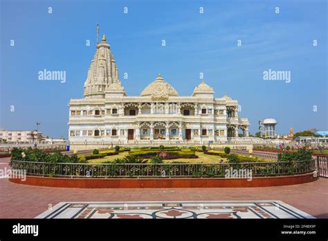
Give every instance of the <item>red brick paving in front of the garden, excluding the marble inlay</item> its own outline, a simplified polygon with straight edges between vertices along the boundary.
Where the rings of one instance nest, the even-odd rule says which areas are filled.
[[[0,159],[8,168],[9,158]],[[314,217],[328,218],[328,179],[266,188],[48,188],[0,179],[0,218],[33,218],[58,202],[280,200]]]

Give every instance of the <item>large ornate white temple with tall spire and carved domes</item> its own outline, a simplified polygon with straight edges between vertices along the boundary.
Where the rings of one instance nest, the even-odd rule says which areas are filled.
[[[84,83],[84,98],[69,102],[69,143],[224,143],[248,136],[250,123],[239,118],[238,102],[215,98],[201,82],[191,96],[179,93],[161,74],[140,96],[127,96],[111,48],[102,37]]]

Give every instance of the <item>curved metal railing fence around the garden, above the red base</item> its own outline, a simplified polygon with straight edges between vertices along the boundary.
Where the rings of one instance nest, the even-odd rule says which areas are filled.
[[[315,170],[313,161],[252,163],[44,163],[11,161],[12,169],[46,177],[230,177],[295,175]]]

